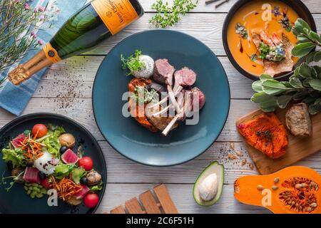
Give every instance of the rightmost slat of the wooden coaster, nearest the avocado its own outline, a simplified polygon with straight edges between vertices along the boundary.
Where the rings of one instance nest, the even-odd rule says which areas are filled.
[[[165,185],[158,185],[157,187],[154,187],[154,192],[158,197],[165,214],[178,214],[178,210],[176,209]]]

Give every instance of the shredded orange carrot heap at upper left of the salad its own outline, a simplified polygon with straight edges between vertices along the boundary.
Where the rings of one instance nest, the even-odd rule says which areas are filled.
[[[34,160],[38,159],[44,152],[42,152],[42,147],[46,147],[45,144],[41,142],[36,142],[35,140],[31,140],[29,138],[25,138],[23,142],[21,142],[21,149],[24,150],[24,157],[28,162],[34,162]]]

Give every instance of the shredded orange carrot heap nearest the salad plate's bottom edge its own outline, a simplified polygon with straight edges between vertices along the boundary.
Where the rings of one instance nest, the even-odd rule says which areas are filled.
[[[81,188],[76,185],[71,179],[63,177],[59,182],[56,182],[55,177],[51,177],[51,182],[54,189],[57,191],[58,197],[67,201],[71,199],[73,195],[81,191]]]

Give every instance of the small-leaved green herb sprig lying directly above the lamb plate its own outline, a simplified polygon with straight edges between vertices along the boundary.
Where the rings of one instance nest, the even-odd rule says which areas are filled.
[[[156,28],[166,28],[177,24],[181,16],[184,16],[189,11],[194,9],[198,4],[198,0],[174,0],[173,5],[170,6],[168,1],[157,0],[151,6],[156,10],[156,15],[149,20],[150,24]]]

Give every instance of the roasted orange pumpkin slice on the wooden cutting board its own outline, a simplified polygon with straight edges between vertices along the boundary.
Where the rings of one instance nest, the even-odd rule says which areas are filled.
[[[289,144],[287,130],[274,113],[262,113],[257,118],[238,125],[238,131],[248,144],[274,159],[285,155]]]

